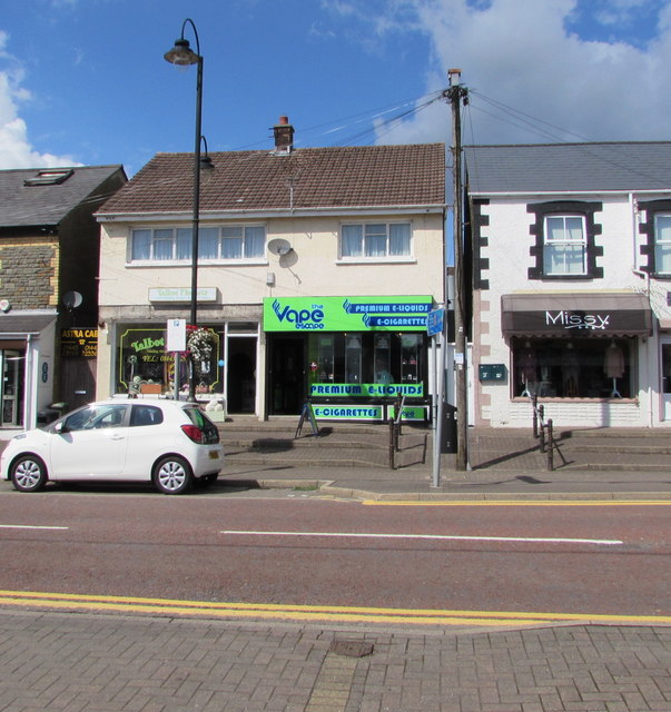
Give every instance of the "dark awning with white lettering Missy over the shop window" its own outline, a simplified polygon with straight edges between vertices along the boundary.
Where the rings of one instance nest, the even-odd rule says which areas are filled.
[[[640,294],[509,294],[504,336],[649,336],[652,312]]]

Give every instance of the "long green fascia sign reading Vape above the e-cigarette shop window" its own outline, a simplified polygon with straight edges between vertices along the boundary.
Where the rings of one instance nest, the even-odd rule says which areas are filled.
[[[433,298],[266,297],[266,332],[426,332]]]

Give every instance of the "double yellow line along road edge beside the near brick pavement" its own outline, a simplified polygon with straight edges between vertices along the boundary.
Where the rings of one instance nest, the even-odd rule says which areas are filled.
[[[590,613],[523,613],[499,611],[441,611],[358,606],[215,603],[131,596],[80,595],[31,591],[0,591],[0,605],[48,611],[125,613],[161,616],[256,619],[333,623],[397,623],[423,625],[527,626],[551,623],[671,625],[671,616]]]

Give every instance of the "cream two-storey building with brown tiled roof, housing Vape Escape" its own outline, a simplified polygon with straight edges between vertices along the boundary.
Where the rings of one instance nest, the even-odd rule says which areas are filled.
[[[303,150],[213,154],[215,178],[204,177],[199,221],[200,246],[211,249],[198,259],[197,322],[216,345],[209,363],[201,364],[197,397],[220,402],[228,413],[266,418],[298,415],[305,397],[314,396],[320,419],[382,421],[391,396],[407,393],[416,396],[417,419],[427,418],[425,315],[444,295],[444,147]],[[332,160],[334,150],[338,159],[346,154],[354,189],[338,176],[333,182],[333,171],[320,165],[312,168],[314,161]],[[428,161],[433,178],[428,190],[417,189],[421,181],[406,174],[399,182],[412,185],[414,194],[398,199],[403,196],[388,192],[392,169],[405,166],[403,174],[407,159],[411,174]],[[159,155],[156,160],[168,175],[172,161],[182,159]],[[253,165],[254,172],[238,176],[238,164],[239,170]],[[357,170],[368,165],[378,176],[377,194],[364,196],[371,181]],[[273,171],[279,171],[280,182]],[[295,188],[287,187],[286,171],[298,176]],[[161,180],[150,178],[147,184],[140,171],[98,214],[98,397],[125,396],[136,376],[166,397],[174,393],[176,373],[178,387],[185,383],[185,364],[175,364],[166,340],[168,322],[189,318],[191,216],[188,200],[186,209],[165,211],[150,200],[136,204],[145,185],[157,204],[167,202]],[[329,179],[334,191],[354,196],[354,205],[328,195]],[[233,197],[218,197],[213,180]],[[305,205],[310,198],[299,188],[308,182],[318,205]],[[256,205],[245,192],[248,184],[257,186]],[[273,192],[277,184],[279,198]],[[363,199],[369,204],[357,205]]]

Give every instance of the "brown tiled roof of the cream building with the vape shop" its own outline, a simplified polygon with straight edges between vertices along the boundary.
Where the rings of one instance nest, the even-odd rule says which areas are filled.
[[[203,170],[200,211],[443,206],[443,144],[225,151]],[[193,154],[157,154],[98,215],[193,210]]]

